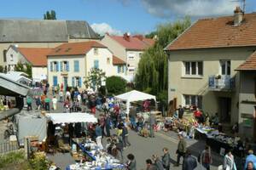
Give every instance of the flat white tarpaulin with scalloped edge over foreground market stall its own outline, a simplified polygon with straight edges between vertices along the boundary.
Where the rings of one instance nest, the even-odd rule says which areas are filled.
[[[97,122],[94,115],[88,113],[48,113],[47,117],[54,123],[74,123],[74,122]]]

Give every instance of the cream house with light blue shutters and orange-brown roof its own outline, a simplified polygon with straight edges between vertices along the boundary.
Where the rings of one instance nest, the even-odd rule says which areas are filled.
[[[67,42],[48,54],[48,81],[50,86],[85,88],[84,81],[92,68],[101,69],[106,77],[122,76],[120,67],[125,61],[117,59],[99,42]]]

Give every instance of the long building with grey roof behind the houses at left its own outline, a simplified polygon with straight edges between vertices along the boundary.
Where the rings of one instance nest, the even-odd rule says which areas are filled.
[[[10,45],[20,48],[55,48],[62,42],[97,39],[86,21],[0,20],[0,65],[6,69]]]

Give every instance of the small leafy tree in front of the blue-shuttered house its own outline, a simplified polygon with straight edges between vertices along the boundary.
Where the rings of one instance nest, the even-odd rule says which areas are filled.
[[[86,88],[94,88],[98,89],[102,86],[102,80],[106,78],[105,72],[98,68],[91,68],[89,72],[89,76],[86,77],[84,81],[84,85]]]

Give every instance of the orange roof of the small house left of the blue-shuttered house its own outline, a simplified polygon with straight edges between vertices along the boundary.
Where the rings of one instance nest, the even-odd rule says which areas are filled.
[[[17,48],[33,66],[46,66],[47,54],[53,48]]]

